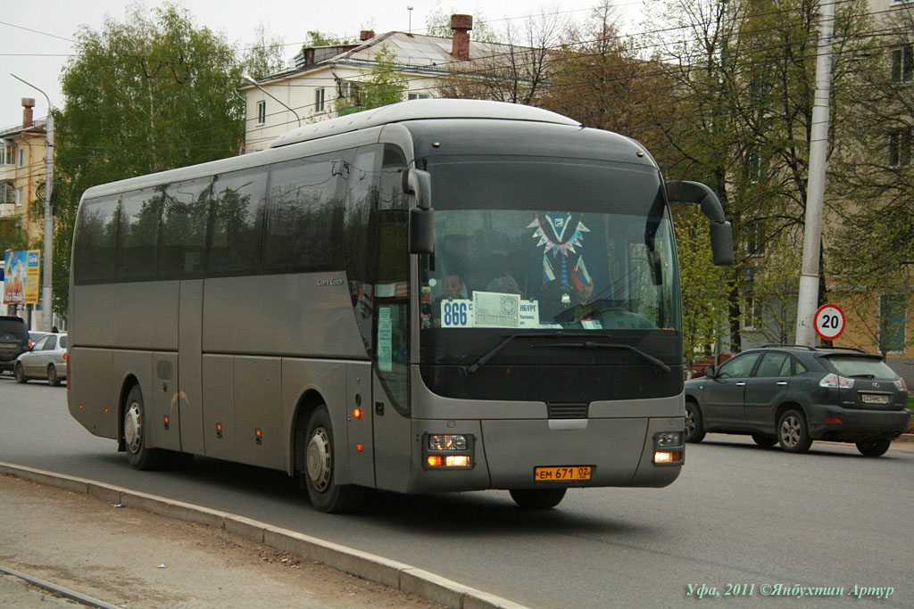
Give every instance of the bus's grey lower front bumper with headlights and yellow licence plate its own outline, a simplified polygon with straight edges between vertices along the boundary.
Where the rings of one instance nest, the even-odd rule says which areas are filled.
[[[407,492],[665,487],[682,469],[684,427],[683,417],[413,419]]]

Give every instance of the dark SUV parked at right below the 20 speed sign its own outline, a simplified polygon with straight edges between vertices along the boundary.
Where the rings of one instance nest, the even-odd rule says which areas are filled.
[[[792,453],[813,440],[854,442],[878,457],[910,420],[908,387],[878,355],[766,345],[685,383],[685,441],[747,434]]]

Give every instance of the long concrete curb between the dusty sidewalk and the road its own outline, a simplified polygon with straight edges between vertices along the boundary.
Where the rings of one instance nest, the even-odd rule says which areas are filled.
[[[522,604],[453,582],[405,562],[391,561],[377,554],[359,551],[333,541],[324,541],[294,530],[274,527],[218,509],[202,508],[183,501],[165,499],[86,478],[65,476],[11,463],[0,462],[0,474],[83,493],[106,503],[124,503],[131,508],[143,509],[167,518],[225,529],[246,540],[262,543],[276,550],[292,552],[308,561],[323,562],[339,571],[372,582],[384,583],[391,588],[417,594],[453,609],[525,609]]]

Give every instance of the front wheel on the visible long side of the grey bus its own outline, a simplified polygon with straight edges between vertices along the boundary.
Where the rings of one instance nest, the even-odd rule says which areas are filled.
[[[324,404],[308,419],[304,446],[304,484],[314,509],[329,514],[356,511],[365,498],[365,489],[336,484],[334,480],[334,430]]]

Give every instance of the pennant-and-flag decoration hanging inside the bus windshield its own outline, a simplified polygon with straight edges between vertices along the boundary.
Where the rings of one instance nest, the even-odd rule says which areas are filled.
[[[545,246],[543,248],[543,286],[558,279],[561,303],[564,307],[569,307],[572,284],[575,288],[580,289],[591,283],[584,258],[575,249],[576,246],[584,247],[584,233],[590,233],[590,228],[584,226],[584,223],[578,219],[577,226],[571,231],[570,227],[575,222],[570,213],[547,212],[544,216],[546,218],[545,226],[539,217],[536,217],[527,228],[536,228],[533,237],[539,238],[537,247]],[[549,252],[552,253],[551,257],[549,257]],[[569,253],[575,256],[569,259]]]

